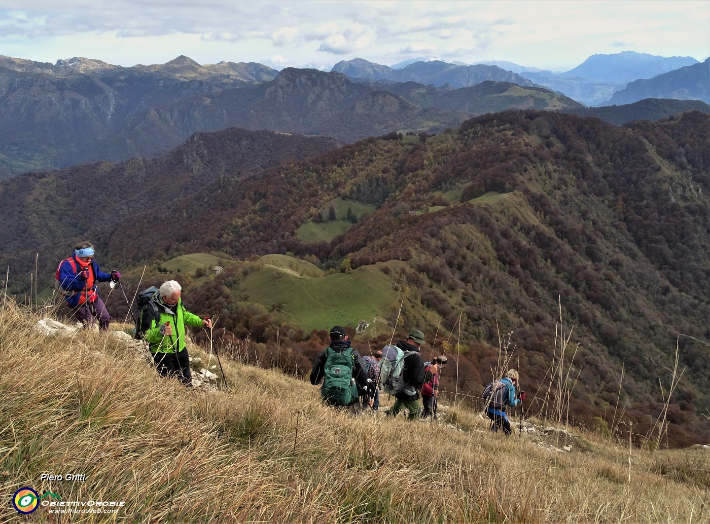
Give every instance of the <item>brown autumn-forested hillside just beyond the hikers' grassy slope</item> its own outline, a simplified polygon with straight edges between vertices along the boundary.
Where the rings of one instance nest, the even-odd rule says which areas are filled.
[[[260,362],[275,350],[273,329],[266,328],[279,325],[278,343],[289,345],[296,372],[305,372],[322,334],[289,325],[278,305],[244,301],[238,289],[259,270],[254,255],[290,252],[344,273],[376,264],[398,294],[383,315],[393,325],[401,303],[400,330],[417,325],[430,340],[437,333],[435,350],[458,362],[458,387],[471,394],[489,379],[503,345],[523,371],[525,389],[544,397],[559,359],[554,348],[569,337],[570,416],[601,425],[623,409],[638,440],[661,412],[660,384],[667,391],[678,350],[684,374],[668,410],[669,442],[687,445],[710,436],[710,353],[703,342],[710,339],[709,123],[699,112],[616,127],[507,111],[439,135],[361,140],[246,177],[236,176],[236,162],[219,160],[224,147],[195,148],[190,162],[182,155],[169,171],[155,162],[144,177],[167,186],[199,173],[208,183],[195,175],[189,191],[110,223],[81,215],[73,230],[52,240],[41,238],[42,226],[52,214],[71,216],[72,196],[46,199],[43,188],[72,175],[45,174],[13,208],[34,202],[48,216],[31,224],[4,211],[2,262],[27,274],[36,252],[58,253],[80,237],[97,243],[106,264],[121,267],[155,268],[191,252],[251,260],[194,283],[180,276],[187,300],[217,313],[236,335],[265,342]],[[196,165],[202,171],[193,171]],[[128,181],[129,169],[126,162],[77,172]],[[1,187],[8,191],[8,184]],[[331,216],[335,202],[371,211],[344,220]],[[304,240],[305,225],[325,231],[337,221],[342,233]],[[40,267],[52,262],[43,259]],[[14,274],[13,289],[28,289]],[[133,285],[137,280],[126,279]],[[332,301],[338,303],[337,292]],[[451,370],[443,386],[453,389],[453,381]]]

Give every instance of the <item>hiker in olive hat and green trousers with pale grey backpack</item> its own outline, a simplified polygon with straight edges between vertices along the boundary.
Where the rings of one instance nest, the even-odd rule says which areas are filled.
[[[399,377],[383,377],[383,374],[387,375],[391,373],[388,371],[388,364],[381,366],[380,381],[383,384],[383,390],[388,391],[389,384],[393,384],[393,389],[389,389],[394,392],[395,403],[387,413],[388,416],[397,416],[397,413],[402,411],[403,408],[409,410],[408,419],[414,420],[419,416],[419,392],[418,390],[424,384],[425,368],[424,360],[419,354],[420,347],[424,344],[424,333],[420,330],[413,329],[407,335],[407,340],[400,340],[395,346],[402,353],[396,353],[395,357],[395,368],[397,370],[397,361],[401,359],[401,373]],[[388,355],[384,354],[382,362],[388,358],[389,362],[392,362],[391,355],[393,353],[392,346],[386,346],[388,349]]]

